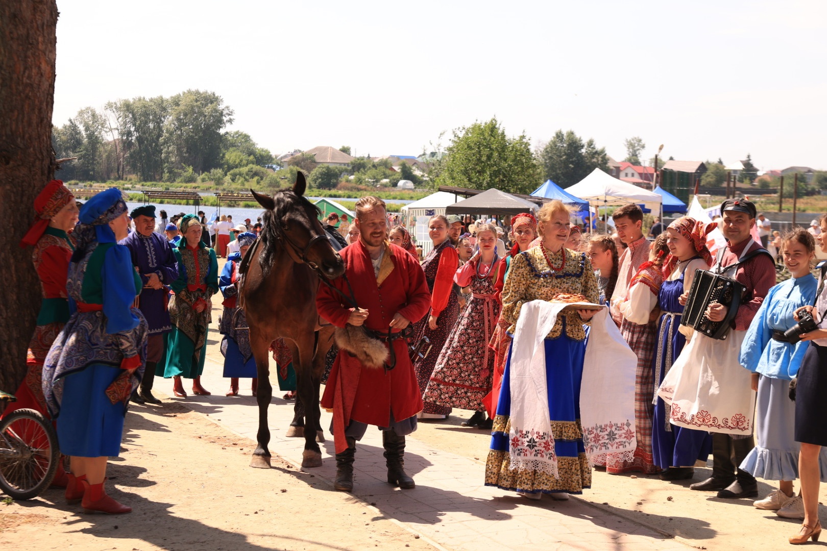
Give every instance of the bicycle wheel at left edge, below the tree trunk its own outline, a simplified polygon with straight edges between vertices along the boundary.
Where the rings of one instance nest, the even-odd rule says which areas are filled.
[[[12,411],[0,420],[0,488],[8,496],[38,496],[55,477],[59,460],[55,429],[39,411]]]

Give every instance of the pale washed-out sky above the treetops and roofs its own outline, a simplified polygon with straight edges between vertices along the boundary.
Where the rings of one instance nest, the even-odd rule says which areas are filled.
[[[55,124],[213,91],[275,154],[418,154],[497,116],[615,159],[827,169],[827,2],[58,2]]]

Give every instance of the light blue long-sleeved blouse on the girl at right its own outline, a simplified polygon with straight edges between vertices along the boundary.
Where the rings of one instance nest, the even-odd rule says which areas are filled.
[[[770,289],[741,344],[740,363],[744,368],[774,379],[789,381],[796,377],[810,343],[772,340],[772,331],[786,331],[796,325],[792,313],[813,303],[816,287],[815,278],[808,273]]]

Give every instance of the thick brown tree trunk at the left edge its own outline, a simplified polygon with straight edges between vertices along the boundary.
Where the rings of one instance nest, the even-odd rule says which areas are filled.
[[[33,202],[55,173],[51,117],[55,101],[55,0],[0,2],[0,388],[15,392],[41,289],[31,249],[17,244],[34,220]]]

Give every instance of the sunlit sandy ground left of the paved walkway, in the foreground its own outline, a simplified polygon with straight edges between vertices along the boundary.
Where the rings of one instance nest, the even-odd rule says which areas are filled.
[[[63,491],[0,504],[2,549],[434,549],[374,507],[273,457],[245,468],[251,442],[187,407],[127,414],[109,493],[128,515],[87,515]],[[301,521],[299,521],[301,520]]]

